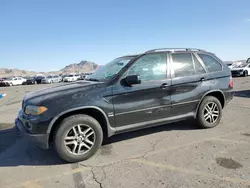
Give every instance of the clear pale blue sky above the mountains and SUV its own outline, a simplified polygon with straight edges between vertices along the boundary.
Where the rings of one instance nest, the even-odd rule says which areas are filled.
[[[1,0],[0,67],[52,71],[159,47],[250,57],[248,0]]]

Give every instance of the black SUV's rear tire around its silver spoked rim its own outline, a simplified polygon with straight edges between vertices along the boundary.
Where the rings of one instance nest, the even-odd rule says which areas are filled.
[[[213,108],[213,106],[212,106],[213,104],[215,104],[216,107],[214,107],[214,112],[211,114],[211,111],[208,112],[207,109]],[[209,110],[211,110],[211,109],[209,109]],[[208,116],[210,116],[210,117],[208,117]],[[199,106],[199,110],[198,110],[197,118],[196,118],[199,127],[200,128],[215,127],[220,123],[221,117],[222,117],[222,106],[221,106],[220,101],[213,96],[204,97],[204,99],[202,100],[202,102]],[[213,118],[213,119],[211,119],[211,118]]]

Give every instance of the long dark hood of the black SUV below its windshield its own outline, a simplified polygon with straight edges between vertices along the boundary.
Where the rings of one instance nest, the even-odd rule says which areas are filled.
[[[46,98],[54,98],[56,96],[62,96],[70,93],[76,93],[77,91],[88,90],[90,88],[101,85],[103,82],[90,82],[90,81],[79,81],[71,84],[62,84],[54,86],[36,92],[28,93],[25,95],[24,100],[37,99],[41,101]]]

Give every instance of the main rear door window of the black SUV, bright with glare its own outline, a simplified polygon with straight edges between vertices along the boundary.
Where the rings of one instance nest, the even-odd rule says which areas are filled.
[[[173,53],[172,60],[175,77],[191,76],[195,74],[191,53]]]

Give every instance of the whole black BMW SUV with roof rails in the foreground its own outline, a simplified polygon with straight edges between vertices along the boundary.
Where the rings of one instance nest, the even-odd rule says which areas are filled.
[[[53,143],[64,160],[88,159],[103,138],[194,118],[218,125],[232,99],[226,64],[198,49],[155,49],[119,57],[86,81],[24,97],[16,126],[40,147]]]

